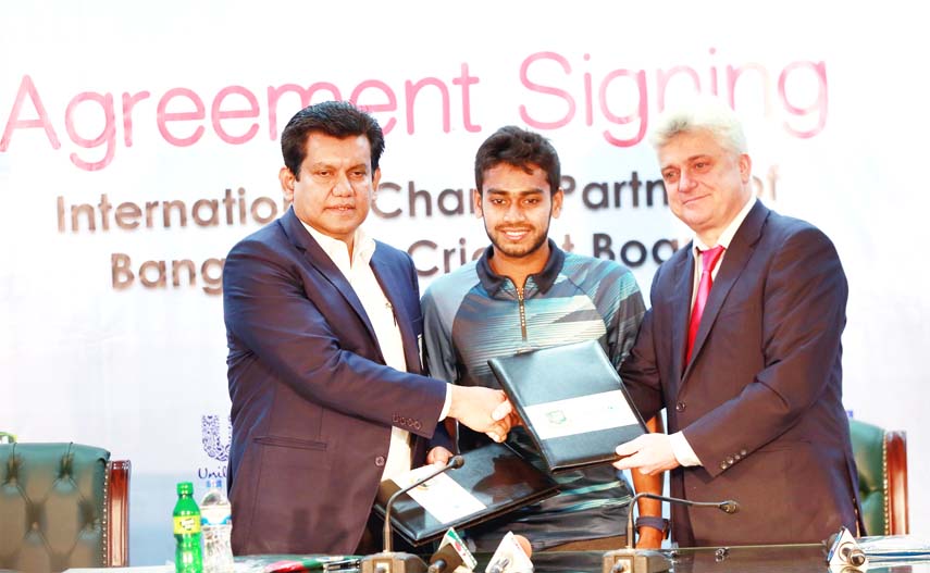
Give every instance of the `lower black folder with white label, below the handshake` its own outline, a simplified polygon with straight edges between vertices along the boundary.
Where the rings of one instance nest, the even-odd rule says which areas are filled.
[[[449,527],[461,531],[558,494],[551,476],[505,445],[492,443],[462,458],[464,464],[458,470],[394,502],[392,527],[413,546],[438,539]],[[385,503],[401,487],[394,479],[381,483],[374,510],[382,518]]]

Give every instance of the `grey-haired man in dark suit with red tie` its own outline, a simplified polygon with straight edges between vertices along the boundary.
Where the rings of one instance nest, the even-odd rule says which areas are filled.
[[[621,376],[668,434],[621,445],[619,469],[670,471],[670,494],[734,499],[735,514],[672,506],[682,546],[818,543],[857,530],[842,403],[847,286],[832,242],[767,209],[729,108],[667,112],[653,136],[669,205],[694,240],[656,272]]]

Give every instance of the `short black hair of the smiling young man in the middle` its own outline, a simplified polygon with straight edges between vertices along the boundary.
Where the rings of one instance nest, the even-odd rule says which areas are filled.
[[[549,140],[540,134],[507,125],[485,139],[474,157],[474,184],[478,192],[481,192],[484,184],[484,172],[500,163],[520,167],[526,173],[532,173],[535,167],[543,170],[546,172],[551,194],[561,186],[559,154]]]

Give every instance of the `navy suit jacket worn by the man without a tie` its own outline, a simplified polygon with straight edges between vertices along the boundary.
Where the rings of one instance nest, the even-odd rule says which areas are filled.
[[[379,242],[371,266],[419,373],[413,263]],[[431,437],[445,383],[384,365],[361,302],[293,209],[230,252],[223,303],[234,551],[355,551],[392,425]],[[424,443],[414,439],[414,463]]]

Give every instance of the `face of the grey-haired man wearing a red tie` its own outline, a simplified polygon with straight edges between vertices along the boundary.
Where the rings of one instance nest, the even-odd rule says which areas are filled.
[[[752,161],[706,130],[682,133],[658,150],[672,213],[708,246],[749,200]]]

